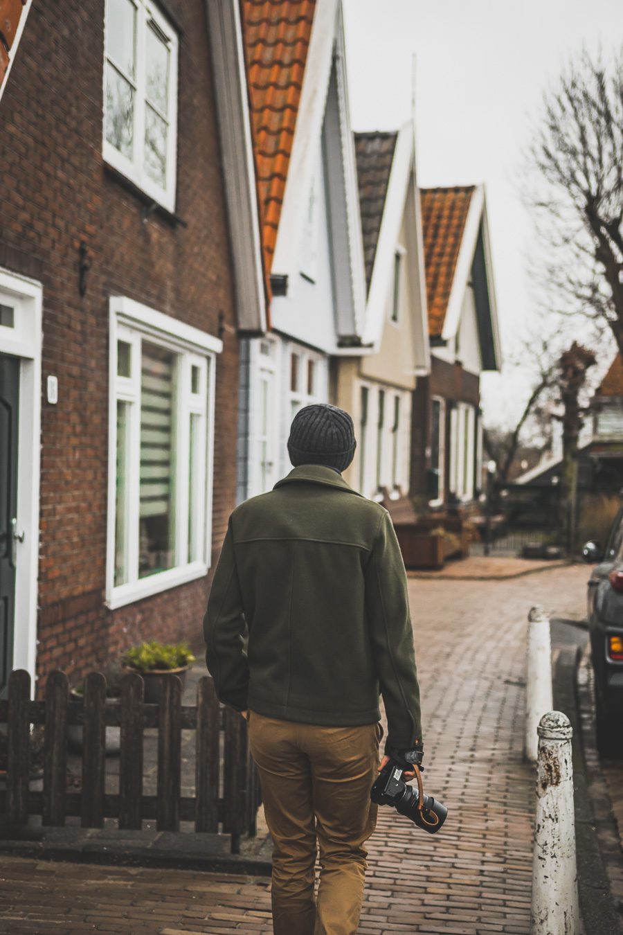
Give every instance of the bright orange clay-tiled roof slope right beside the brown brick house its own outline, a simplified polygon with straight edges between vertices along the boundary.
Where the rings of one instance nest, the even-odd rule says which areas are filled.
[[[241,0],[264,271],[270,276],[316,0]]]

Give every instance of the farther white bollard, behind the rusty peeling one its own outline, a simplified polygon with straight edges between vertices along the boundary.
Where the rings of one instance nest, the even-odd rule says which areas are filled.
[[[536,760],[538,736],[536,728],[545,712],[554,707],[552,698],[552,647],[549,617],[537,605],[528,615],[528,653],[526,664],[526,758]]]

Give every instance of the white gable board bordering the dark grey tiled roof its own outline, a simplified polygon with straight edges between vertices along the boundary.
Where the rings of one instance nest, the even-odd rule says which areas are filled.
[[[383,334],[383,322],[393,271],[393,256],[403,223],[406,192],[413,171],[413,162],[413,131],[409,122],[401,127],[396,137],[388,191],[376,241],[375,265],[370,281],[363,332],[363,343],[371,346],[372,353],[378,351]]]

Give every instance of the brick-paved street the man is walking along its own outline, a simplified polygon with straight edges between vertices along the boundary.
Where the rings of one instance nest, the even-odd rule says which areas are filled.
[[[499,581],[411,579],[425,784],[438,836],[382,809],[360,932],[528,933],[533,778],[522,762],[526,618],[577,617],[587,569]],[[0,858],[0,932],[269,932],[267,881]],[[296,935],[296,933],[292,933]]]

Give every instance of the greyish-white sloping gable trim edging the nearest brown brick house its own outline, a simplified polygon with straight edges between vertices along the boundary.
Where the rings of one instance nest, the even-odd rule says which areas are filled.
[[[266,330],[266,297],[238,0],[206,0],[238,327]]]

